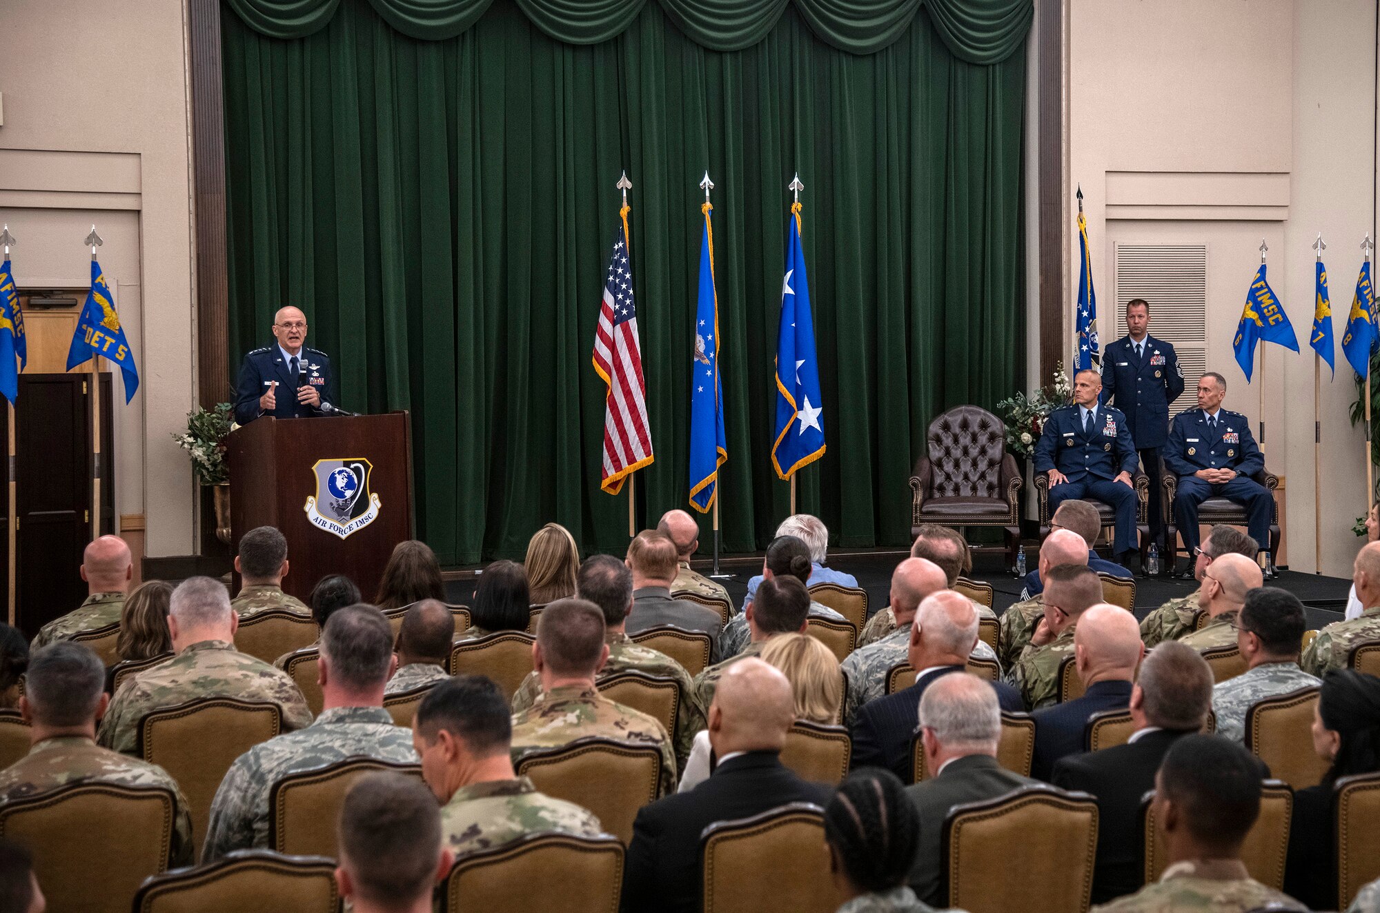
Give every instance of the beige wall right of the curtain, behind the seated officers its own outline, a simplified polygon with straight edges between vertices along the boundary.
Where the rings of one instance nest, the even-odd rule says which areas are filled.
[[[1227,377],[1227,408],[1254,428],[1260,379],[1246,385],[1231,341],[1267,240],[1270,283],[1303,354],[1265,346],[1265,455],[1289,480],[1289,564],[1303,571],[1315,570],[1310,245],[1318,232],[1329,243],[1340,346],[1374,214],[1374,15],[1370,0],[1070,0],[1070,172],[1086,197],[1103,342],[1125,332],[1116,243],[1205,243],[1209,364]],[[1070,200],[1070,225],[1075,214]],[[1068,281],[1076,290],[1076,272]],[[1347,418],[1355,385],[1340,349],[1337,361],[1321,394],[1321,570],[1350,576],[1363,433]],[[1176,410],[1192,404],[1188,392]]]

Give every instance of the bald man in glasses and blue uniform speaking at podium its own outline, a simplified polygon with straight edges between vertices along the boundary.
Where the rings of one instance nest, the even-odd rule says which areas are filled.
[[[261,415],[308,418],[328,415],[335,401],[331,360],[308,349],[306,314],[282,308],[273,314],[275,345],[254,349],[240,364],[235,385],[235,421],[248,425]]]

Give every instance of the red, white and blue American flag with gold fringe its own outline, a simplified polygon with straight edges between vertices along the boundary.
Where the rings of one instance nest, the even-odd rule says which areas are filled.
[[[638,306],[632,298],[632,266],[628,261],[628,223],[624,218],[618,219],[609,257],[609,279],[599,305],[595,371],[609,385],[604,397],[603,480],[599,484],[615,495],[629,473],[653,459],[647,385],[642,379],[642,346],[638,342]]]

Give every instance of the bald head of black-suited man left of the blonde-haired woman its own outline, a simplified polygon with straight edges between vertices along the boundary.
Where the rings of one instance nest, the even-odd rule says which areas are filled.
[[[795,723],[791,681],[756,656],[740,659],[719,679],[709,705],[709,745],[730,752],[780,752]]]

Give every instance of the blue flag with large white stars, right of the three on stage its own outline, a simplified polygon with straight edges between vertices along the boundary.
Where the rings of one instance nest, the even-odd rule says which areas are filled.
[[[800,248],[800,204],[791,205],[785,250],[785,281],[781,284],[781,325],[777,330],[777,426],[771,465],[781,479],[824,455],[824,411],[820,368],[814,359],[814,320],[810,314],[810,283]]]

